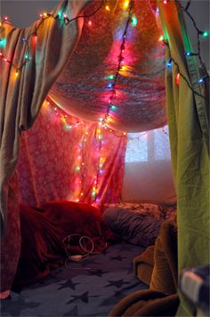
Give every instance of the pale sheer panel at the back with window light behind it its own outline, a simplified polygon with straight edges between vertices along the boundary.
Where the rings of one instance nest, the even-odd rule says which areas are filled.
[[[127,137],[122,200],[176,203],[168,127]]]

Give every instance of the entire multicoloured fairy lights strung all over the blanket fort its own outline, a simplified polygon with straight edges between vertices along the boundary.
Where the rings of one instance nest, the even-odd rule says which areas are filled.
[[[198,52],[194,53],[194,52],[185,52],[186,58],[188,58],[188,56],[198,56],[198,60],[199,63],[202,67],[202,69],[204,70],[205,76],[203,76],[202,78],[198,79],[198,85],[204,84],[206,79],[209,79],[208,73],[206,71],[206,66],[205,63],[202,61],[201,58],[201,52],[200,52],[200,38],[206,38],[209,35],[209,32],[207,30],[202,31],[198,28],[196,21],[193,19],[193,17],[191,16],[190,12],[189,12],[189,8],[190,8],[190,1],[188,1],[188,4],[183,7],[182,4],[180,4],[180,2],[178,0],[174,0],[175,3],[177,3],[179,5],[179,8],[182,9],[182,11],[184,13],[187,13],[188,16],[190,17],[190,20],[193,23],[194,28],[197,30],[197,35],[198,35]],[[168,4],[170,2],[170,0],[162,0],[163,4]],[[118,4],[118,1],[117,1]],[[114,8],[114,11],[116,9],[116,6]],[[18,78],[20,75],[20,72],[22,71],[22,69],[26,66],[26,64],[30,61],[31,56],[30,56],[30,40],[31,38],[36,38],[37,34],[38,34],[38,30],[39,28],[42,26],[42,24],[44,23],[45,20],[47,19],[53,19],[54,21],[60,21],[63,23],[64,27],[67,27],[69,25],[69,23],[71,21],[75,21],[79,18],[85,18],[88,19],[87,23],[89,26],[92,26],[92,21],[90,20],[90,18],[95,14],[98,13],[101,8],[104,6],[105,10],[107,13],[111,13],[112,10],[110,8],[110,6],[108,4],[105,4],[105,1],[102,0],[99,4],[99,6],[93,11],[93,13],[90,14],[85,14],[85,15],[78,15],[75,18],[69,19],[68,15],[64,12],[64,9],[61,9],[57,15],[53,15],[52,13],[41,13],[39,16],[39,21],[37,21],[36,24],[36,28],[34,29],[34,31],[32,33],[30,33],[28,35],[27,38],[22,38],[22,44],[23,46],[25,46],[25,55],[23,58],[23,61],[20,64],[16,64],[13,63],[12,60],[8,59],[5,55],[4,55],[4,48],[6,46],[6,38],[0,38],[0,59],[2,59],[5,63],[9,63],[14,69],[15,69],[15,77]],[[115,105],[115,99],[117,98],[117,78],[118,76],[121,74],[121,71],[124,67],[124,63],[125,63],[125,46],[126,46],[126,38],[127,38],[127,31],[128,28],[130,26],[132,27],[136,27],[137,25],[137,18],[135,17],[135,15],[133,14],[133,8],[134,8],[134,2],[133,0],[125,0],[123,3],[123,10],[127,11],[127,19],[125,21],[125,29],[123,31],[122,34],[122,42],[121,45],[119,47],[119,54],[117,56],[117,69],[115,73],[110,73],[107,76],[108,79],[108,83],[106,85],[106,88],[109,88],[109,99],[108,99],[108,103],[107,103],[107,108],[106,108],[106,113],[104,115],[101,115],[100,119],[99,119],[99,126],[98,128],[96,128],[95,130],[95,138],[98,142],[98,160],[96,163],[96,169],[95,169],[95,174],[93,175],[93,181],[92,181],[92,189],[91,189],[91,199],[92,199],[92,204],[97,204],[100,201],[100,177],[101,174],[104,172],[104,165],[105,165],[105,155],[104,155],[104,132],[105,129],[109,129],[108,124],[110,121],[112,121],[112,113],[115,113],[117,110],[117,107]],[[114,12],[113,11],[113,12]],[[159,11],[157,9],[157,14],[159,14]],[[8,17],[4,17],[2,20],[0,20],[0,27],[4,27],[4,23],[8,23]],[[159,41],[162,41],[164,45],[166,45],[169,48],[169,45],[166,41],[166,38],[164,36],[161,36],[160,38],[158,38]],[[170,48],[169,48],[169,52],[170,52]],[[177,85],[180,84],[180,77],[182,77],[188,84],[189,88],[193,91],[193,93],[197,94],[198,96],[204,97],[200,94],[198,94],[198,92],[192,88],[192,86],[190,85],[190,82],[188,81],[188,79],[185,78],[185,76],[182,74],[182,72],[179,70],[179,65],[178,63],[176,63],[174,57],[169,58],[168,61],[166,61],[166,68],[167,69],[171,69],[172,66],[176,65],[178,67],[178,73],[176,74],[175,77],[175,83]],[[52,112],[55,114],[55,116],[57,118],[60,119],[60,121],[63,124],[64,129],[66,130],[71,130],[77,127],[80,127],[81,129],[83,129],[83,136],[82,139],[80,140],[78,146],[77,146],[77,160],[75,162],[75,170],[78,173],[77,174],[77,198],[76,201],[77,202],[82,202],[84,200],[85,197],[85,143],[86,140],[88,138],[88,134],[89,134],[89,125],[85,123],[85,121],[81,121],[81,120],[76,120],[76,121],[72,121],[72,117],[67,114],[64,113],[63,111],[61,111],[61,108],[58,107],[57,105],[53,104],[51,102],[50,99],[46,99],[44,102],[45,105],[49,106],[52,109]],[[126,133],[123,132],[121,135],[115,133],[115,131],[113,129],[109,129],[110,133],[114,133],[117,137],[122,138],[122,136],[126,137]],[[163,128],[163,132],[166,134],[166,136],[168,136],[168,132],[166,130],[166,128]],[[138,140],[142,137],[147,135],[147,132],[143,132],[141,133],[141,135],[139,135]],[[132,138],[133,140],[135,140],[136,138]],[[131,141],[131,140],[130,140]]]

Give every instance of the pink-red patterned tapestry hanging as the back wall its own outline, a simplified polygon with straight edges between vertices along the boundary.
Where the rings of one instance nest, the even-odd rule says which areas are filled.
[[[118,202],[125,146],[125,134],[80,121],[45,102],[33,128],[22,133],[17,169],[22,202]]]

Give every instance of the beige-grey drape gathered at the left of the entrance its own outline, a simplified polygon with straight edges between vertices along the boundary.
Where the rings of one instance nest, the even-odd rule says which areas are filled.
[[[61,1],[53,12],[64,11],[74,18],[90,4],[87,0]],[[5,38],[6,46],[2,53],[11,63],[20,66],[24,61],[27,46],[22,38],[27,38],[36,29],[40,21],[36,21],[27,29],[15,29],[4,21],[0,28],[1,38]],[[1,73],[1,151],[0,151],[0,195],[1,195],[1,233],[6,228],[6,201],[8,195],[7,179],[15,169],[20,143],[20,131],[29,129],[36,120],[36,115],[44,102],[44,98],[59,76],[65,63],[72,54],[83,26],[83,19],[72,21],[70,27],[63,27],[57,19],[46,19],[36,31],[36,39],[28,40],[29,62],[21,68],[16,78],[16,68],[0,59]],[[55,46],[55,38],[57,38]]]

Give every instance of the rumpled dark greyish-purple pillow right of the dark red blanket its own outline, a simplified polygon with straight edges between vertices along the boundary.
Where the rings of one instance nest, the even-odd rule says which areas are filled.
[[[118,207],[110,207],[103,213],[109,228],[124,240],[139,246],[155,244],[163,220],[140,213],[131,213]]]

